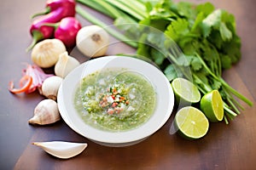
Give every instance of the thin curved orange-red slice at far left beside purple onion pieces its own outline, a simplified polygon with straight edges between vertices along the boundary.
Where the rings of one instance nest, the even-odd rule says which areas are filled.
[[[23,83],[26,81],[26,83],[23,85]],[[21,77],[20,79],[20,88],[14,88],[14,82],[9,82],[9,91],[13,94],[20,94],[22,92],[26,92],[30,86],[32,85],[32,77],[25,75],[24,77]]]

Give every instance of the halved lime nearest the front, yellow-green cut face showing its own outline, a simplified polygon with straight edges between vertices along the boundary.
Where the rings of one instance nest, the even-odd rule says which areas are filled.
[[[177,132],[185,139],[200,139],[207,134],[207,117],[193,106],[183,107],[174,117]]]

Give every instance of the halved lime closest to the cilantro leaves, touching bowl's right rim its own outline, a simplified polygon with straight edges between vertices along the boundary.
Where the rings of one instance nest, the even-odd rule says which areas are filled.
[[[189,80],[178,77],[172,81],[172,89],[177,100],[183,99],[188,103],[197,103],[201,99],[198,88]]]

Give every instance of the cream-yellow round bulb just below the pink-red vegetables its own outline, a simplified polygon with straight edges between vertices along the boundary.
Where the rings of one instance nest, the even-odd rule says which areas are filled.
[[[57,62],[59,55],[66,51],[66,47],[59,39],[45,39],[32,48],[32,61],[42,67],[49,68]]]

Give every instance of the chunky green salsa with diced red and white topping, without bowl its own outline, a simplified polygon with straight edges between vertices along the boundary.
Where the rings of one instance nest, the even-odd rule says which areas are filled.
[[[154,87],[135,71],[108,68],[84,77],[74,105],[86,124],[108,131],[125,131],[147,122],[154,112]]]

